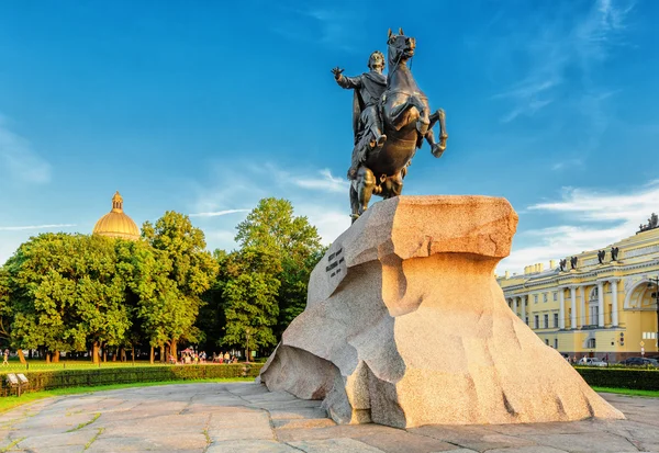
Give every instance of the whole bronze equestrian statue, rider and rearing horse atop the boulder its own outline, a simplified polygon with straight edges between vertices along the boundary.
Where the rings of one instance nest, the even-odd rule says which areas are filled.
[[[431,114],[428,99],[407,67],[416,41],[405,36],[402,29],[398,35],[389,30],[387,45],[389,76],[386,79],[379,52],[369,58],[370,72],[345,77],[343,69],[332,70],[340,87],[355,90],[355,148],[348,170],[353,222],[368,208],[372,194],[383,199],[401,194],[407,166],[424,139],[438,158],[448,138],[444,111],[439,109]],[[436,123],[439,123],[438,143],[433,132]]]

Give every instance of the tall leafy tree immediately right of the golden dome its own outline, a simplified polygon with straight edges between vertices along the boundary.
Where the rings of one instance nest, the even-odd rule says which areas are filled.
[[[166,338],[170,353],[176,356],[179,341],[196,342],[200,338],[194,321],[203,305],[201,294],[211,287],[217,274],[217,262],[205,250],[203,231],[193,227],[186,215],[168,211],[155,225],[145,222],[142,236],[154,249],[164,252],[170,263],[167,275],[172,282],[172,286],[158,295],[166,302],[165,308],[152,315],[143,312],[142,316],[154,321],[149,329]],[[157,319],[164,319],[167,328],[158,330]]]

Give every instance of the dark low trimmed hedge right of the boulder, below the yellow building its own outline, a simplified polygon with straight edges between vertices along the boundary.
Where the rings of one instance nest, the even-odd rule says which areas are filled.
[[[659,370],[607,369],[578,366],[581,377],[594,387],[633,388],[636,390],[659,390]]]

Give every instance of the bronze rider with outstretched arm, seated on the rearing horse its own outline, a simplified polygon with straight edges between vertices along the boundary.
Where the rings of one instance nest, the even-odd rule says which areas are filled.
[[[387,76],[384,69],[384,55],[373,52],[368,59],[369,72],[357,77],[344,76],[343,69],[334,68],[332,72],[336,83],[346,89],[355,90],[354,118],[355,148],[353,148],[353,161],[348,170],[348,179],[355,179],[357,169],[366,160],[368,151],[380,148],[387,141],[382,134],[382,120],[379,106],[382,94],[387,89]],[[358,113],[358,111],[361,113]]]

